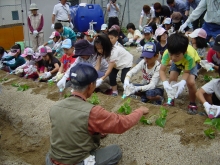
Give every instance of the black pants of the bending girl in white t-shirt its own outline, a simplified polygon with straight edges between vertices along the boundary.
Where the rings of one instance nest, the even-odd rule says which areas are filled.
[[[121,70],[121,82],[122,83],[124,83],[125,76],[129,70],[130,68],[124,68]],[[117,85],[116,78],[117,78],[118,71],[119,71],[118,69],[113,68],[109,75],[109,81],[110,81],[111,86]]]

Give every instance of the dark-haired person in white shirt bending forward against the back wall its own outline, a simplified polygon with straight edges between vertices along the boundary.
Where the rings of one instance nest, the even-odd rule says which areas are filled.
[[[139,20],[140,31],[142,31],[142,29],[143,29],[142,22],[143,22],[144,16],[147,17],[147,21],[146,21],[145,25],[149,25],[150,23],[152,23],[154,21],[154,19],[156,18],[154,8],[150,7],[148,5],[143,6],[143,10],[141,11],[141,17]]]

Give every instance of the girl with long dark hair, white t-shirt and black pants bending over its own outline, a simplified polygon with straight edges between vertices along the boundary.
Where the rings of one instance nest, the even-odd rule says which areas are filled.
[[[105,35],[98,35],[94,41],[95,52],[109,62],[105,75],[96,81],[96,87],[99,87],[103,80],[109,76],[110,85],[112,87],[112,96],[118,95],[117,90],[117,74],[121,70],[121,82],[124,83],[125,75],[133,65],[133,55],[120,46],[112,45],[110,39]],[[99,66],[97,65],[97,69]]]

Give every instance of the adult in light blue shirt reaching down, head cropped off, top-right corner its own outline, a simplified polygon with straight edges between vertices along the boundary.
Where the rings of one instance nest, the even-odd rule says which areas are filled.
[[[204,24],[202,28],[207,33],[207,41],[213,37],[214,39],[220,34],[220,1],[219,0],[201,0],[199,5],[190,14],[186,22],[180,27],[179,31],[183,31],[187,25],[197,20],[203,12],[205,12]]]

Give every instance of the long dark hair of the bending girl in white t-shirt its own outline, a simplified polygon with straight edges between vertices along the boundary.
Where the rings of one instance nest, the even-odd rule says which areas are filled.
[[[100,54],[97,49],[96,45],[100,44],[102,45],[103,49],[103,54]],[[110,39],[106,35],[98,35],[94,41],[94,49],[95,53],[101,56],[104,56],[104,58],[108,58],[111,56],[111,51],[112,51],[113,45],[110,41]]]

